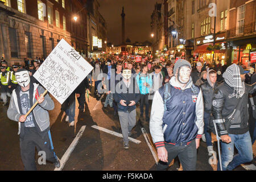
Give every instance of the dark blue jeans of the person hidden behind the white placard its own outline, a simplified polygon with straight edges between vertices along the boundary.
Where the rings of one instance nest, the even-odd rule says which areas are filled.
[[[75,111],[76,111],[76,97],[75,93],[72,93],[67,100],[61,105],[61,109],[65,111],[68,115],[69,123],[75,121]]]

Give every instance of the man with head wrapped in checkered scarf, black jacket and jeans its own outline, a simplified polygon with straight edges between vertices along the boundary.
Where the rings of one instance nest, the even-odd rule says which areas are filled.
[[[213,122],[221,137],[222,169],[233,170],[253,160],[253,148],[248,125],[248,94],[256,91],[256,84],[245,84],[245,70],[230,65],[223,73],[224,83],[216,89],[212,102]],[[234,146],[238,154],[234,155]],[[218,164],[218,170],[220,165]]]

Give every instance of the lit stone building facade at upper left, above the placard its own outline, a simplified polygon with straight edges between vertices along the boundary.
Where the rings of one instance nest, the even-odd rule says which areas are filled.
[[[86,1],[1,1],[0,56],[9,65],[24,64],[24,58],[46,59],[61,39],[86,56]]]

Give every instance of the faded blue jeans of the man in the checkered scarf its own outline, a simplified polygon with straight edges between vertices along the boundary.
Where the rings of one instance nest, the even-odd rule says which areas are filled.
[[[231,171],[240,164],[248,163],[253,160],[253,146],[251,145],[251,137],[249,131],[245,134],[234,135],[229,134],[230,143],[221,142],[221,160],[223,171]],[[234,146],[236,146],[238,154],[234,155]],[[218,162],[218,171],[220,164]]]

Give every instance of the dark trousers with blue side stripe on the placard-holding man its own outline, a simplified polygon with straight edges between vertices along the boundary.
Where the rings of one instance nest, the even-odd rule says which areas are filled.
[[[55,163],[57,161],[49,130],[39,134],[35,127],[25,127],[24,137],[19,138],[19,146],[22,162],[26,171],[36,170],[35,147],[38,152],[46,152],[46,160],[49,162]]]

